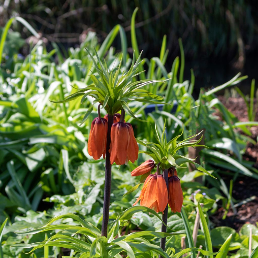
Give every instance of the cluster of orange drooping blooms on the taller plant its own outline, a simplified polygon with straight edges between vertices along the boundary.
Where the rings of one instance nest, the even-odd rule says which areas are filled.
[[[110,143],[110,162],[117,165],[127,164],[128,160],[134,162],[138,158],[139,147],[135,140],[133,127],[125,121],[120,122],[120,114],[114,115],[114,121],[111,127]],[[101,155],[105,158],[106,142],[108,130],[108,115],[104,118],[95,118],[91,124],[91,130],[88,140],[88,153],[95,160]]]

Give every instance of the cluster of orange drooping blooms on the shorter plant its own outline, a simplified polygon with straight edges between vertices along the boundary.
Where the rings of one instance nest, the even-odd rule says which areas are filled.
[[[147,160],[139,167],[135,168],[131,172],[131,175],[139,176],[150,173],[155,166],[153,160]],[[165,179],[162,175],[157,175],[157,173],[148,175],[140,196],[133,205],[138,203],[139,200],[141,200],[140,205],[154,209],[156,212],[163,213],[167,204],[169,204],[172,212],[181,212],[183,191],[176,170],[172,168],[168,169],[168,191]]]

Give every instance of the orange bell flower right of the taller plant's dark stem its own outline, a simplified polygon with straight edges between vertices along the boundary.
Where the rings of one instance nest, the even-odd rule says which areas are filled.
[[[127,164],[128,160],[135,162],[138,158],[139,147],[134,138],[133,127],[130,123],[118,122],[111,127],[110,163]]]

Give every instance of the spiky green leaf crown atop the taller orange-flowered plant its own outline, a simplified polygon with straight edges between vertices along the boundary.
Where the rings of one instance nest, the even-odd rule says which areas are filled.
[[[163,97],[144,90],[142,87],[151,83],[164,82],[164,80],[145,79],[135,81],[134,77],[141,73],[141,71],[139,72],[139,65],[142,62],[142,60],[140,60],[141,55],[135,61],[135,55],[133,54],[132,65],[127,72],[124,72],[121,70],[122,59],[120,60],[118,67],[108,69],[106,61],[104,60],[104,62],[102,62],[100,60],[96,50],[94,57],[87,49],[86,51],[90,55],[96,71],[95,74],[91,75],[93,84],[67,96],[64,100],[53,101],[55,103],[65,103],[82,96],[81,103],[83,103],[87,96],[93,97],[95,100],[88,108],[82,123],[88,115],[90,115],[93,110],[93,105],[97,102],[101,103],[102,108],[105,108],[110,115],[114,115],[119,110],[124,109],[129,115],[138,120],[140,119],[134,116],[134,113],[128,106],[128,102],[134,100],[152,104],[162,103],[157,100],[162,100]]]

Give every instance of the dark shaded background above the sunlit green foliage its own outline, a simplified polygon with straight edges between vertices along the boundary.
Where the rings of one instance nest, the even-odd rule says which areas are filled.
[[[174,58],[180,54],[181,37],[186,55],[185,79],[190,78],[193,68],[197,88],[211,87],[241,71],[249,76],[241,85],[244,93],[248,93],[251,79],[257,79],[257,6],[255,0],[11,0],[0,7],[0,26],[19,15],[42,33],[49,49],[51,42],[67,49],[78,45],[88,30],[96,31],[101,42],[120,23],[130,46],[131,16],[138,7],[136,34],[143,57],[158,56],[166,34],[169,49],[166,66],[170,70]],[[22,38],[30,36],[18,23],[12,28]],[[120,49],[119,41],[115,42],[116,49]],[[23,47],[20,51],[26,55],[29,49]]]

